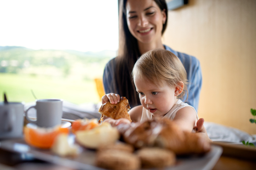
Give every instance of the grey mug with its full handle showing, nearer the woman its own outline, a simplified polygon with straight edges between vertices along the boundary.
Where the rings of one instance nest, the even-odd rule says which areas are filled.
[[[28,111],[36,109],[36,120],[29,119]],[[54,127],[61,125],[62,100],[61,99],[40,99],[36,100],[36,105],[26,110],[26,119],[39,127]]]

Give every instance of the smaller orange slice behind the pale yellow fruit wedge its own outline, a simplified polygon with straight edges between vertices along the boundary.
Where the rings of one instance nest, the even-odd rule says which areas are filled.
[[[78,130],[90,130],[99,126],[97,119],[77,119],[72,123],[72,132],[76,133]]]

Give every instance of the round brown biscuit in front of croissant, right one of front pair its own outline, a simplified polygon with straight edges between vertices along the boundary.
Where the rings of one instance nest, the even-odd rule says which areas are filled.
[[[159,147],[145,147],[137,151],[143,168],[163,168],[174,165],[175,153]]]

